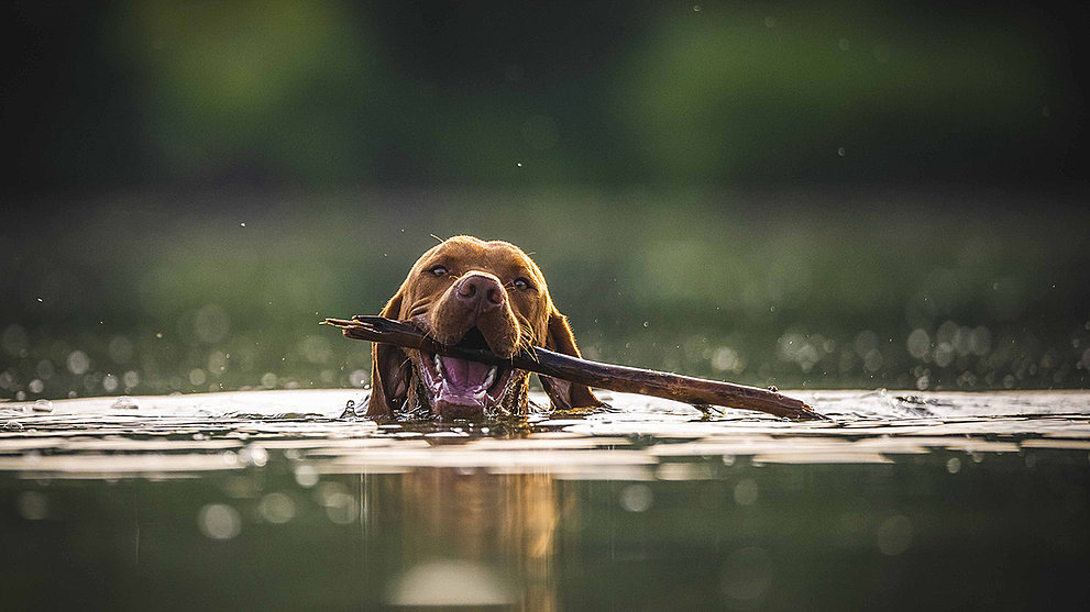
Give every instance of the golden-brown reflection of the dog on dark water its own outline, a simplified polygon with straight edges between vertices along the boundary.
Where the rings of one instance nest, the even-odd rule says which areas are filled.
[[[431,468],[396,486],[407,569],[392,603],[558,608],[553,557],[564,513],[550,475]],[[441,585],[458,587],[437,592]]]

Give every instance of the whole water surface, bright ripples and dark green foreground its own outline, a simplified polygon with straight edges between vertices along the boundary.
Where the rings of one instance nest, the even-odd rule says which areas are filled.
[[[833,421],[624,394],[384,426],[341,418],[359,391],[4,404],[4,607],[1090,604],[1090,393],[789,394]]]

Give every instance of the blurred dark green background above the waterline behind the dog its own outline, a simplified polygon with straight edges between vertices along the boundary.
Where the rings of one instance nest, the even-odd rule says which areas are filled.
[[[782,388],[1085,388],[1075,3],[3,9],[0,397],[364,386],[431,234],[584,352]]]

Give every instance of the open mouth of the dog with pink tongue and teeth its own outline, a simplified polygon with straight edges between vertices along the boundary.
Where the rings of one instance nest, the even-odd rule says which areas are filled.
[[[476,326],[455,344],[460,348],[488,349]],[[507,393],[515,370],[434,353],[418,352],[420,380],[430,396],[432,411],[442,419],[473,419],[494,412]]]

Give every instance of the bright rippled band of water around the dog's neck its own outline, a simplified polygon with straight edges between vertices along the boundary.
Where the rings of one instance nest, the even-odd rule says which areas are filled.
[[[115,410],[117,398],[57,400],[53,412],[33,410],[41,405],[34,402],[3,404],[10,416],[0,421],[0,471],[161,479],[286,469],[299,487],[317,489],[323,475],[425,468],[547,471],[577,480],[714,480],[750,465],[882,464],[928,454],[957,474],[972,466],[949,453],[979,463],[986,454],[1031,448],[1090,449],[1085,391],[797,393],[830,415],[828,422],[738,410],[707,419],[685,404],[617,393],[613,410],[579,418],[382,426],[338,418],[354,396],[299,390],[133,398],[139,411]],[[904,405],[925,405],[927,413],[909,414]],[[745,479],[733,482],[737,503],[757,502]],[[623,505],[642,512],[637,492]],[[266,504],[273,518],[285,515],[283,501]],[[326,501],[334,522],[360,511],[351,497]]]

